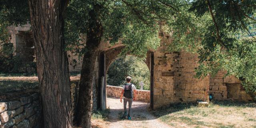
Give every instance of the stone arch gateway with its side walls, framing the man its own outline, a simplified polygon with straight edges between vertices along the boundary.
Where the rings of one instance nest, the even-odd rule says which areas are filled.
[[[146,64],[150,69],[150,107],[152,109],[179,102],[196,102],[208,98],[207,88],[210,86],[210,76],[204,79],[195,78],[195,68],[198,66],[198,55],[184,51],[169,52],[168,44],[172,39],[162,34],[160,47],[147,53]],[[106,42],[102,43],[107,44]],[[93,109],[106,108],[106,72],[124,44],[100,46],[92,93]]]

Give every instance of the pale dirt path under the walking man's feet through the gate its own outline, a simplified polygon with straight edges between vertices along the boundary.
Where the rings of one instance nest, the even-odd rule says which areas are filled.
[[[170,128],[150,114],[148,106],[149,104],[144,102],[133,102],[132,120],[120,119],[123,114],[123,103],[116,98],[107,98],[107,107],[110,108],[109,128]]]

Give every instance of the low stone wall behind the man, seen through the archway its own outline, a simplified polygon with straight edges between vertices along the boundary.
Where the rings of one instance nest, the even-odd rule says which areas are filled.
[[[120,98],[122,87],[118,86],[107,86],[107,96]],[[148,90],[137,90],[137,100],[142,102],[150,102],[150,91]]]

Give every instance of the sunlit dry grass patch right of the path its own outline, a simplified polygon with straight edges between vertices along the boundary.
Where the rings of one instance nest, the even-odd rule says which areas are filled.
[[[192,128],[254,128],[255,102],[211,102],[208,107],[195,104],[176,104],[152,112],[162,122],[173,126]]]

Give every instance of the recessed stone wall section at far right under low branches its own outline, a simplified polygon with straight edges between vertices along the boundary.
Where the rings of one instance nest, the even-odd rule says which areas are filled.
[[[220,71],[214,78],[210,78],[209,94],[212,94],[213,100],[252,101],[240,80],[234,76],[224,78],[225,73]]]

